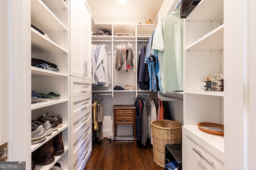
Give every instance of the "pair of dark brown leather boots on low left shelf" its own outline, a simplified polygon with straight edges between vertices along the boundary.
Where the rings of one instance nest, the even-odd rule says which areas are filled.
[[[32,160],[34,160],[35,164],[48,165],[54,162],[55,156],[59,156],[63,153],[64,145],[62,141],[62,132],[60,132],[32,152]]]

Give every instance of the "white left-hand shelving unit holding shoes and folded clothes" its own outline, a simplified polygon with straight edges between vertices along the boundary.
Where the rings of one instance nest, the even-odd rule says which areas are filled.
[[[54,131],[42,143],[31,145],[35,151],[54,136],[62,132],[65,152],[55,156],[55,161],[46,166],[36,164],[36,170],[49,170],[58,160],[68,169],[68,5],[62,0],[32,0],[31,24],[46,33],[50,39],[31,27],[31,57],[42,59],[58,66],[59,72],[31,66],[32,90],[37,93],[60,94],[60,99],[38,102],[31,105],[32,120],[43,113],[61,115],[63,126]]]

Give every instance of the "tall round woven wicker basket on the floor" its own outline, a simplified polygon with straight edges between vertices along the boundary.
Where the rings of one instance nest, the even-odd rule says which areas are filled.
[[[165,167],[165,145],[181,144],[182,125],[176,121],[156,120],[151,122],[154,161]]]

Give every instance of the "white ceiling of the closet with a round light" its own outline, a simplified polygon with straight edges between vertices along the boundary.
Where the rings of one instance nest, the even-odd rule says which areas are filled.
[[[173,0],[167,0],[172,2]],[[155,20],[164,0],[87,0],[94,23],[145,23]]]

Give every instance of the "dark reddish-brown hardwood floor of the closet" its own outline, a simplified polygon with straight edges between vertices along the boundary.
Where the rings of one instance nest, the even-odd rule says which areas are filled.
[[[92,145],[92,154],[84,170],[164,170],[154,161],[152,145],[134,141],[110,141],[104,138]]]

